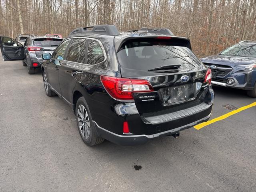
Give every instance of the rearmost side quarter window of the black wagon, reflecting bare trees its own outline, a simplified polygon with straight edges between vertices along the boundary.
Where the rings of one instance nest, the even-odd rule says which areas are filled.
[[[105,56],[98,41],[89,40],[87,52],[87,64],[95,65],[104,61]]]

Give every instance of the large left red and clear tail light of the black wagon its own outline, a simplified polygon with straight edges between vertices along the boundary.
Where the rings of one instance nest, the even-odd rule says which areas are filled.
[[[133,100],[135,92],[152,92],[152,85],[148,80],[118,78],[110,76],[100,76],[101,82],[110,96],[116,100]]]

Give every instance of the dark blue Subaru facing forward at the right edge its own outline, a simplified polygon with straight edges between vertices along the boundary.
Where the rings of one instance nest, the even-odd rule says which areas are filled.
[[[244,89],[256,98],[256,41],[241,41],[201,61],[212,69],[212,84]]]

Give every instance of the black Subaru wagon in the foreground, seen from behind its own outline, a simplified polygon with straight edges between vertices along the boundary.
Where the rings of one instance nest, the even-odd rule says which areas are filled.
[[[210,118],[211,70],[168,29],[78,28],[43,58],[46,94],[72,106],[90,146],[178,136]]]

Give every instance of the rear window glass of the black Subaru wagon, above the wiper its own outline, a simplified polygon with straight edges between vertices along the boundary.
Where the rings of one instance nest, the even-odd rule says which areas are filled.
[[[188,70],[200,66],[201,62],[193,52],[182,43],[180,45],[171,40],[129,40],[117,56],[122,67],[134,70],[148,71],[162,66]]]

